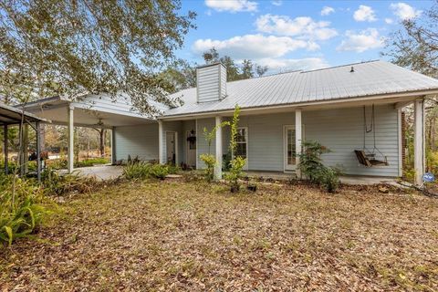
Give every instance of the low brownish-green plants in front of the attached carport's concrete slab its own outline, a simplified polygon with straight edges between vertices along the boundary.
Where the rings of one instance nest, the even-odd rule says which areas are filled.
[[[73,192],[90,193],[99,188],[99,182],[95,177],[82,176],[79,172],[61,175],[51,169],[42,173],[41,183],[49,195],[63,195]]]

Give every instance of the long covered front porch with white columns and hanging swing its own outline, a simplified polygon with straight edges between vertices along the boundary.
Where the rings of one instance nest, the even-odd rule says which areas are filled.
[[[342,166],[348,177],[396,178],[402,175],[401,111],[414,104],[415,182],[424,172],[424,96],[394,96],[388,99],[341,100],[312,105],[243,109],[239,121],[239,153],[247,160],[246,172],[284,173],[301,176],[297,169],[303,141],[318,141],[331,150],[323,155],[328,166]],[[203,169],[202,153],[216,157],[214,175],[222,178],[229,153],[230,133],[218,129],[210,147],[203,129],[212,130],[230,120],[232,110],[216,114],[165,117],[159,120],[160,162],[186,163]],[[169,136],[172,133],[172,136]],[[194,150],[191,141],[194,136]],[[167,143],[169,137],[172,141]],[[190,141],[189,141],[190,140]],[[193,151],[191,154],[189,151]],[[373,154],[369,160],[385,163],[365,165],[355,151]],[[195,156],[193,162],[192,155]],[[190,162],[190,163],[187,163]]]

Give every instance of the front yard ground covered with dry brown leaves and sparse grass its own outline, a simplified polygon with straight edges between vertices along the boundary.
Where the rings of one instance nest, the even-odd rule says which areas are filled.
[[[123,183],[0,252],[0,290],[438,290],[438,200],[375,187]]]

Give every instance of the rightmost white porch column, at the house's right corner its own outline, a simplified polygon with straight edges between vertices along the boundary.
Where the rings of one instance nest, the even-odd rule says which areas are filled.
[[[413,107],[414,137],[413,137],[413,168],[415,170],[415,184],[422,184],[424,173],[425,143],[424,143],[424,99],[416,99]]]

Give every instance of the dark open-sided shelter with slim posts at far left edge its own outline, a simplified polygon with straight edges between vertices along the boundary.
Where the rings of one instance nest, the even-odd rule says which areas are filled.
[[[5,154],[5,174],[9,173],[9,147],[7,143],[7,133],[9,126],[18,125],[19,126],[19,137],[20,137],[20,148],[23,145],[23,125],[27,124],[32,129],[36,131],[36,175],[38,181],[41,180],[41,132],[40,132],[40,123],[41,122],[50,122],[50,120],[46,120],[36,115],[27,112],[25,110],[19,110],[14,107],[8,106],[3,102],[0,102],[0,126],[4,127],[4,154]],[[24,162],[27,157],[24,157],[24,152],[21,150],[19,154],[19,165],[20,165],[20,174],[24,175]]]

